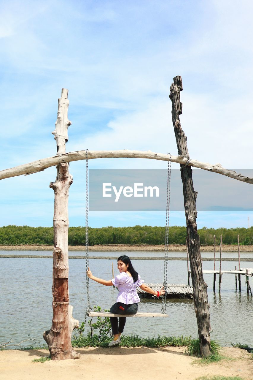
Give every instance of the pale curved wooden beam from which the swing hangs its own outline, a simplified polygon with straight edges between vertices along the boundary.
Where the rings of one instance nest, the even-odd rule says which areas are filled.
[[[168,161],[169,155],[164,153],[155,153],[151,150],[142,152],[141,150],[90,150],[87,153],[88,160],[94,158],[149,158],[151,160]],[[86,151],[79,150],[77,152],[69,152],[53,157],[42,158],[41,160],[33,161],[24,165],[15,166],[14,168],[5,169],[0,171],[0,179],[21,176],[22,174],[28,175],[43,171],[51,166],[59,165],[63,162],[86,160]],[[252,177],[245,177],[242,174],[236,173],[236,171],[225,169],[221,164],[209,164],[207,162],[201,162],[197,160],[190,160],[188,158],[179,156],[171,156],[172,162],[177,162],[182,165],[193,166],[194,168],[200,168],[207,171],[213,171],[214,173],[222,174],[223,176],[231,177],[248,184],[253,184]]]

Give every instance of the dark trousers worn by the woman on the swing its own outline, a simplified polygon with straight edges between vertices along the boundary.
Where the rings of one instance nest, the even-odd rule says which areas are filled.
[[[124,310],[119,309],[119,307],[122,307]],[[136,314],[138,311],[138,304],[130,304],[125,305],[122,304],[122,302],[116,302],[114,305],[112,305],[110,309],[110,313],[114,314]],[[118,317],[110,317],[111,326],[112,326],[112,334],[119,334],[119,332],[124,331],[124,327],[126,324],[126,317],[119,317],[119,324],[118,324]]]

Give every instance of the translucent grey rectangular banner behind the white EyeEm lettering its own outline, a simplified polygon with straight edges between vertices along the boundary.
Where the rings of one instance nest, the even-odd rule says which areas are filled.
[[[253,170],[236,170],[253,177]],[[165,211],[166,169],[89,169],[90,211]],[[193,170],[197,211],[253,211],[250,184],[205,170]],[[171,211],[183,211],[180,169],[171,170]]]

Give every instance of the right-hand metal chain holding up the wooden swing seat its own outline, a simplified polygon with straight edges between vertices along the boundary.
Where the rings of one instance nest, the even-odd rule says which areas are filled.
[[[169,204],[171,198],[171,154],[168,161],[168,176],[167,176],[167,202],[166,202],[166,226],[165,226],[165,249],[164,249],[164,277],[163,286],[165,293],[162,297],[161,312],[166,314],[166,295],[167,295],[167,275],[168,275],[168,249],[169,249]]]

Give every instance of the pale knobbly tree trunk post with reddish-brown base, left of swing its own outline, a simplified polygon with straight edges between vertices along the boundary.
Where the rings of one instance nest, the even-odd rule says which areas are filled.
[[[68,127],[71,125],[68,120],[69,103],[68,90],[62,89],[55,131],[52,132],[59,157],[66,152]],[[72,182],[68,163],[57,165],[56,180],[49,185],[54,190],[53,320],[51,329],[43,334],[52,360],[80,358],[71,345],[72,331],[79,322],[72,317],[73,307],[68,293],[68,192]]]

